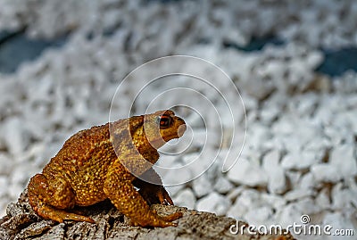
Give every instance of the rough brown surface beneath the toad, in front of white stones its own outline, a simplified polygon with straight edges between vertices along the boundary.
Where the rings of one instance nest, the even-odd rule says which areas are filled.
[[[87,222],[56,223],[39,218],[31,210],[27,190],[21,194],[18,203],[10,203],[7,215],[0,219],[1,239],[294,239],[286,235],[255,235],[247,233],[235,235],[230,227],[237,224],[236,219],[218,217],[210,212],[187,210],[176,206],[153,205],[159,214],[175,211],[183,212],[178,227],[141,228],[129,226],[129,219],[120,214],[109,201],[81,208],[84,214],[95,219],[96,224]],[[238,222],[238,226],[245,225]],[[234,228],[232,228],[234,229]]]

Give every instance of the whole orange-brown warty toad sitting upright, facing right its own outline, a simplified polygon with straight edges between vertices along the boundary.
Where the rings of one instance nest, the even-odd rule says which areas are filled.
[[[182,214],[162,217],[148,203],[173,204],[153,170],[157,149],[186,130],[185,121],[166,110],[79,131],[68,139],[41,174],[29,181],[29,203],[45,219],[87,221],[71,212],[109,198],[134,225],[168,227]],[[140,190],[137,192],[135,186]]]

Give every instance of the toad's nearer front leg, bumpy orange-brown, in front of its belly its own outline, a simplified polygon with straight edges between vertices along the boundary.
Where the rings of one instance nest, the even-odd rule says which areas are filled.
[[[181,212],[175,212],[169,216],[159,216],[150,210],[143,197],[135,190],[132,181],[134,176],[126,170],[119,161],[112,164],[108,170],[104,183],[104,194],[112,201],[115,207],[127,217],[134,225],[169,227],[177,226],[171,221],[182,217]]]

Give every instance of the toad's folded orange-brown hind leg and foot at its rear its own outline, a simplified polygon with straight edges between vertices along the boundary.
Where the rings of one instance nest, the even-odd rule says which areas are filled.
[[[29,180],[28,189],[29,204],[45,219],[58,222],[63,220],[95,222],[91,218],[64,211],[74,207],[75,195],[70,184],[61,177],[49,181],[43,174],[37,174]]]

